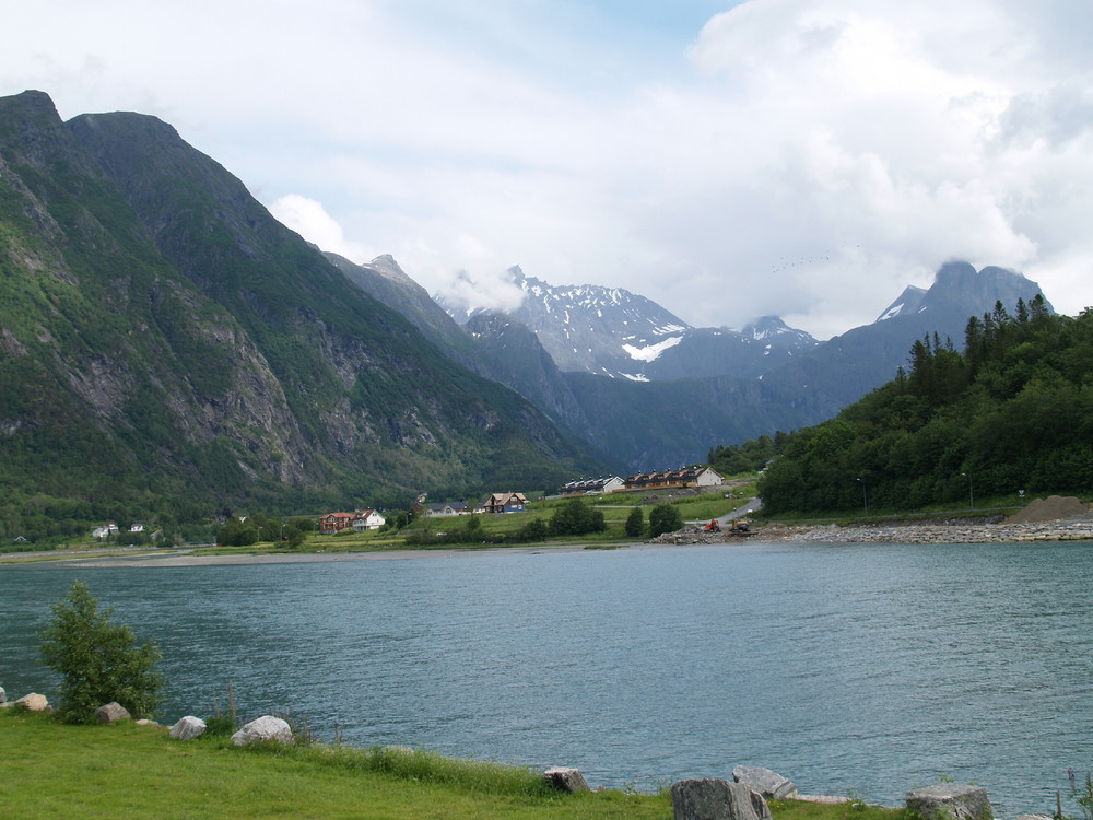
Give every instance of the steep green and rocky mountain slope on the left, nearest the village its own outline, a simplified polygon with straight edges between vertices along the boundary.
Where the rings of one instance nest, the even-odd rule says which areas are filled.
[[[596,469],[153,117],[0,99],[0,481],[25,495],[372,505]]]

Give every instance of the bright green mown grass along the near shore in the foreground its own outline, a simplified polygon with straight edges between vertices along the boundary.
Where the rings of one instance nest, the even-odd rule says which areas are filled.
[[[670,820],[671,800],[619,790],[567,795],[537,773],[431,752],[310,746],[237,749],[171,740],[130,723],[67,726],[0,710],[4,816],[119,820],[508,818]],[[865,806],[772,803],[774,820],[908,820]]]

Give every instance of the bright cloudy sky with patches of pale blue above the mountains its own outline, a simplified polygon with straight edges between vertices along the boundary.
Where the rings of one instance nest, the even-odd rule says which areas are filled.
[[[1089,0],[5,5],[0,94],[158,116],[433,293],[519,265],[826,338],[966,259],[1093,305]]]

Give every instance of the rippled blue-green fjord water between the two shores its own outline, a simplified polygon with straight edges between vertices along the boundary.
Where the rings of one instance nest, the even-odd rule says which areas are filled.
[[[896,805],[941,777],[1050,813],[1093,768],[1090,543],[764,544],[339,563],[0,569],[0,686],[75,578],[154,636],[165,719],[573,765],[651,789],[774,769]],[[337,724],[337,730],[336,730]],[[1066,810],[1065,805],[1065,810]],[[1073,813],[1078,813],[1073,806]]]

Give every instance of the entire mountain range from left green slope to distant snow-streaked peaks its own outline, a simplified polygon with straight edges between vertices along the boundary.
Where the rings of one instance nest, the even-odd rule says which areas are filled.
[[[959,341],[1039,292],[951,262],[818,342],[777,317],[693,328],[622,289],[509,276],[518,309],[457,321],[390,256],[308,245],[154,117],[62,122],[40,92],[0,98],[0,482],[27,514],[42,499],[78,518],[662,469],[830,418],[917,339]]]

